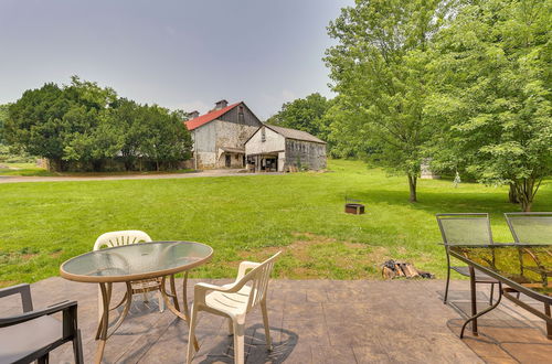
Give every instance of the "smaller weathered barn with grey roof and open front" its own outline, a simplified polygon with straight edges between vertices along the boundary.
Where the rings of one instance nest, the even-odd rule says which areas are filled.
[[[325,141],[306,131],[267,124],[245,142],[245,154],[255,172],[326,168]]]

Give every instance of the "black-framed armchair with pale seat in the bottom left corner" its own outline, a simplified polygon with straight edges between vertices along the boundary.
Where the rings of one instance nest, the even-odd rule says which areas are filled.
[[[47,363],[49,353],[70,341],[73,342],[75,363],[84,363],[76,301],[34,311],[29,285],[0,289],[0,298],[18,293],[21,295],[23,313],[0,318],[0,363]],[[51,317],[56,312],[63,313],[62,321]]]

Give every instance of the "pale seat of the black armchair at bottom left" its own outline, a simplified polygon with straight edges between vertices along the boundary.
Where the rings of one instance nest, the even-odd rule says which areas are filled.
[[[0,363],[13,363],[62,339],[62,323],[44,315],[0,329]]]

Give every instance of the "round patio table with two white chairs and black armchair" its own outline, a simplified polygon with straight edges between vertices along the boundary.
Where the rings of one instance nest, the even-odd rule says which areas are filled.
[[[140,243],[140,244],[137,244]],[[188,363],[191,363],[199,344],[194,330],[200,311],[229,319],[234,335],[235,363],[244,361],[244,325],[248,312],[261,307],[265,325],[266,343],[272,349],[268,330],[266,293],[268,280],[279,251],[263,263],[242,261],[235,281],[214,286],[198,283],[194,287],[192,313],[188,308],[187,283],[190,269],[211,259],[213,249],[192,242],[152,242],[140,231],[112,232],[99,236],[94,250],[72,258],[60,267],[63,278],[98,283],[98,328],[96,331],[95,363],[100,363],[107,339],[112,336],[127,317],[132,297],[151,291],[158,292],[159,309],[167,307],[178,318],[190,324]],[[182,272],[183,307],[180,308],[174,275]],[[167,290],[167,282],[170,291]],[[123,299],[112,307],[113,285],[124,283]],[[75,363],[84,363],[81,332],[77,326],[77,302],[62,302],[44,310],[33,311],[29,285],[0,289],[0,298],[20,293],[23,314],[0,319],[0,363],[49,362],[49,353],[61,344],[72,341]],[[123,307],[118,319],[109,321],[109,312]],[[51,314],[63,312],[59,322]],[[59,336],[60,328],[62,335]],[[33,333],[33,334],[31,334]],[[30,340],[23,340],[30,339]]]

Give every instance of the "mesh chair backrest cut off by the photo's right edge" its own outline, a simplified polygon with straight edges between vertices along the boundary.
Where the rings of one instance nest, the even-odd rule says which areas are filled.
[[[552,212],[505,213],[516,243],[551,244]]]

